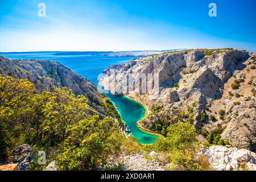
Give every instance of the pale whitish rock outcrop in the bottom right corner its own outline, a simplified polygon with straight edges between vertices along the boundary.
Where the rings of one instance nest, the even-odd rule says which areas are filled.
[[[218,171],[256,171],[256,154],[249,150],[211,146],[208,149],[202,148],[199,154],[207,156],[210,166]]]

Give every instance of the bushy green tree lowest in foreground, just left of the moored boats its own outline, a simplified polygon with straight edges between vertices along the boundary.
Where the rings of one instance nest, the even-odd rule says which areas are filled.
[[[57,156],[61,170],[89,170],[105,163],[121,146],[121,134],[113,118],[85,118],[68,127],[63,152]]]

